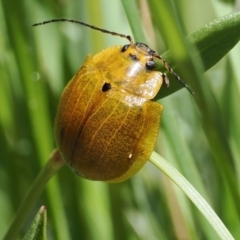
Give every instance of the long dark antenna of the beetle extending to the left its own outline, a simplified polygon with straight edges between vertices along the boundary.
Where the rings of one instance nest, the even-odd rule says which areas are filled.
[[[93,25],[89,25],[87,23],[76,21],[76,20],[71,20],[71,19],[65,19],[65,18],[52,19],[52,20],[49,20],[49,21],[41,22],[41,23],[35,23],[32,26],[36,27],[36,26],[39,26],[39,25],[44,25],[44,24],[54,23],[54,22],[71,22],[71,23],[80,24],[80,25],[83,25],[85,27],[90,27],[90,28],[92,28],[94,30],[97,30],[97,31],[100,31],[100,32],[103,32],[103,33],[107,33],[107,34],[111,34],[113,36],[119,36],[119,37],[122,37],[122,38],[126,38],[131,44],[133,44],[132,37],[129,36],[129,35],[108,31],[106,29],[98,28],[98,27],[95,27]]]

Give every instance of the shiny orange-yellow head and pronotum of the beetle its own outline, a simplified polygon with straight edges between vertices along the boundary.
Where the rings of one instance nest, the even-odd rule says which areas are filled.
[[[153,53],[147,45],[135,43],[107,48],[95,55],[93,61],[112,87],[152,99],[163,80],[162,74],[154,71]]]

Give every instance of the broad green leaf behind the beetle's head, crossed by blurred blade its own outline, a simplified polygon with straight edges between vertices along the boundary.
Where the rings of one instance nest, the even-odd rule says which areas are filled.
[[[196,46],[205,71],[214,66],[238,43],[239,29],[240,12],[237,12],[216,19],[187,37],[187,41]],[[165,52],[162,57],[169,65],[175,65],[170,51]],[[163,68],[161,67],[161,69]],[[176,68],[174,71],[178,72],[178,69]],[[183,87],[170,74],[168,76],[171,80],[171,87],[169,89],[162,88],[156,99],[170,95]]]

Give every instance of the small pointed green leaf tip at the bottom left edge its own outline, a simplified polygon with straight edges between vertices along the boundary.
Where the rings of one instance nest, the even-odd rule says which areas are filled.
[[[23,240],[46,240],[46,227],[47,227],[47,210],[42,206],[37,215],[35,216],[28,232]]]

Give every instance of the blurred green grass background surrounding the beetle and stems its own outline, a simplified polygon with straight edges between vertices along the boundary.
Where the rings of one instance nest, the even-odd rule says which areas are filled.
[[[55,147],[53,123],[64,86],[88,54],[125,44],[124,39],[74,24],[31,25],[65,17],[124,34],[131,34],[131,26],[137,41],[159,53],[170,47],[178,55],[182,45],[171,19],[159,14],[163,3],[169,5],[175,25],[185,36],[239,6],[236,2],[226,7],[214,0],[1,1],[0,238]],[[161,100],[164,113],[156,150],[179,169],[235,239],[240,239],[236,204],[240,46],[206,74],[202,73],[204,64],[193,59],[191,52],[190,48],[191,61],[179,63],[178,69],[196,97],[183,89]],[[48,209],[48,239],[218,239],[184,194],[149,163],[119,184],[91,182],[62,168],[32,209],[21,237],[42,205]]]

